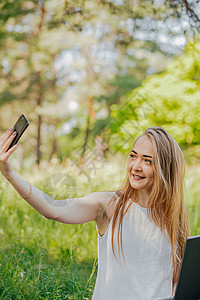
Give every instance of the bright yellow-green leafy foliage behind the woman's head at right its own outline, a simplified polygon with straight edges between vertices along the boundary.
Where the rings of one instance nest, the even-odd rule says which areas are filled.
[[[111,106],[111,116],[121,139],[134,138],[147,127],[164,127],[183,150],[193,149],[200,158],[200,44],[188,44],[161,74],[151,75],[142,86],[129,93],[119,106]],[[189,152],[186,157],[190,161]],[[194,162],[194,161],[193,161]]]

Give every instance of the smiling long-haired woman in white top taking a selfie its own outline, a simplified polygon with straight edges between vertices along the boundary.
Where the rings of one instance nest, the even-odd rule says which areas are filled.
[[[136,139],[125,184],[118,191],[73,201],[50,197],[47,201],[42,191],[13,170],[10,156],[18,146],[6,152],[13,138],[13,130],[0,137],[0,170],[21,197],[48,219],[68,224],[96,221],[98,273],[93,300],[172,295],[190,229],[183,153],[164,128],[148,128]]]

